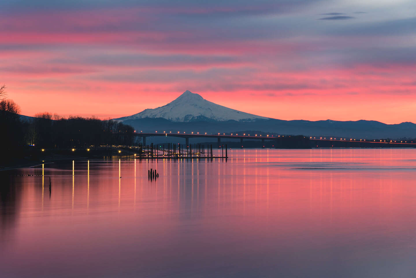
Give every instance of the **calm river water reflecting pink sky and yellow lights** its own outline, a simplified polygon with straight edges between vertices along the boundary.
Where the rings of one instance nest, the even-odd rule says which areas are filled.
[[[1,173],[0,277],[415,277],[416,149],[228,155]]]

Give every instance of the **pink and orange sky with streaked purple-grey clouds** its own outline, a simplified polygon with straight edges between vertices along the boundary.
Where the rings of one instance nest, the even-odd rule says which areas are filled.
[[[277,119],[416,123],[415,0],[2,0],[22,114],[121,117],[185,90]]]

